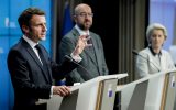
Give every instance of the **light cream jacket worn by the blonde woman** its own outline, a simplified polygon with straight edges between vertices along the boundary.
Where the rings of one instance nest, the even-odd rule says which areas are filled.
[[[167,70],[175,68],[174,62],[168,52],[161,51],[161,63],[158,64],[155,55],[152,53],[150,47],[141,51],[136,58],[136,79],[158,73],[161,70]]]

